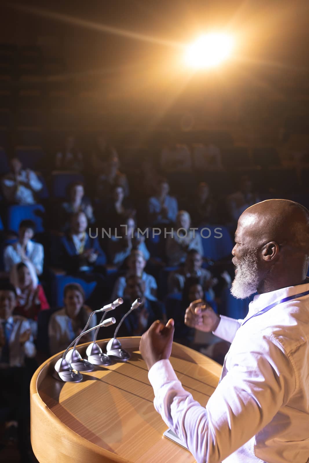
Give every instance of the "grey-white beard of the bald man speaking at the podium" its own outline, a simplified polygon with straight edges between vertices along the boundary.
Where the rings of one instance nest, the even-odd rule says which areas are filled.
[[[250,250],[236,266],[237,274],[231,287],[231,294],[237,299],[246,299],[256,293],[259,285],[258,259],[256,250]]]

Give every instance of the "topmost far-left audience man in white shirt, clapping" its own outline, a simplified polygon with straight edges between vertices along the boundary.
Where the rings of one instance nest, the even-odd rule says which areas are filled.
[[[11,172],[1,179],[1,188],[5,200],[9,204],[20,206],[36,204],[36,193],[43,185],[38,176],[30,169],[22,169],[19,158],[14,156],[10,162]]]

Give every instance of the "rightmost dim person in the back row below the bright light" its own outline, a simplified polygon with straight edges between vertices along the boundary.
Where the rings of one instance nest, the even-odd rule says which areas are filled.
[[[193,145],[195,170],[222,169],[221,151],[211,139],[206,144]]]

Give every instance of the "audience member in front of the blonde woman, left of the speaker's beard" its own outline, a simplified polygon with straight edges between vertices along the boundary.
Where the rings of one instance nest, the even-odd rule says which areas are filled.
[[[203,258],[195,249],[188,251],[183,267],[170,273],[168,277],[169,293],[181,293],[188,278],[197,278],[204,291],[209,291],[214,298],[212,287],[216,284],[211,272],[202,268]]]

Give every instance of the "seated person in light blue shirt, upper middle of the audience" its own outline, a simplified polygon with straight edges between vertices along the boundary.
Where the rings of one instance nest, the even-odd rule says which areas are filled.
[[[150,225],[170,224],[175,222],[178,203],[169,195],[170,186],[165,178],[159,178],[157,193],[148,200],[148,220]]]

